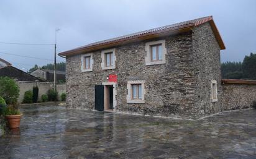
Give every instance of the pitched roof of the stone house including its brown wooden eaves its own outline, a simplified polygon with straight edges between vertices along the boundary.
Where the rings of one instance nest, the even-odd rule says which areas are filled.
[[[166,26],[158,27],[158,28],[152,28],[152,29],[145,30],[142,32],[132,33],[129,35],[124,35],[121,37],[98,41],[95,43],[89,43],[88,45],[81,46],[79,48],[64,51],[62,53],[59,53],[59,55],[60,56],[70,56],[73,54],[83,53],[85,51],[93,51],[96,49],[102,49],[102,48],[107,48],[107,47],[111,47],[111,46],[122,45],[124,43],[129,43],[132,41],[139,41],[139,40],[161,37],[164,35],[170,35],[171,33],[186,32],[186,31],[190,30],[190,28],[196,27],[196,26],[204,24],[206,22],[209,22],[209,24],[211,25],[214,35],[216,37],[216,40],[219,43],[220,48],[225,49],[225,45],[224,45],[224,42],[222,41],[221,35],[219,34],[219,31],[217,30],[217,27],[214,24],[213,16],[208,16],[208,17],[202,17],[199,19],[188,20],[185,22],[177,23],[177,24],[166,25]]]

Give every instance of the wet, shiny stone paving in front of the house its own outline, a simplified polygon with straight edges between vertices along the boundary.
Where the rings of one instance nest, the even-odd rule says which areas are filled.
[[[23,108],[21,129],[0,138],[0,158],[256,158],[256,110],[198,121]]]

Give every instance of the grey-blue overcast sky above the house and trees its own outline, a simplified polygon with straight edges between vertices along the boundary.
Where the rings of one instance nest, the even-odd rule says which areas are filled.
[[[256,1],[63,1],[1,0],[0,42],[55,43],[57,53],[129,33],[213,15],[226,50],[221,61],[242,61],[256,53]],[[2,53],[53,59],[53,46],[0,44],[0,58],[19,69],[52,61]],[[65,59],[58,57],[58,61]],[[25,70],[24,69],[24,70]]]

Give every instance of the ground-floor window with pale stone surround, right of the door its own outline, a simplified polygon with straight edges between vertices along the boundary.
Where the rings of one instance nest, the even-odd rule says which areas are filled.
[[[127,103],[145,103],[144,80],[128,80],[127,91]]]

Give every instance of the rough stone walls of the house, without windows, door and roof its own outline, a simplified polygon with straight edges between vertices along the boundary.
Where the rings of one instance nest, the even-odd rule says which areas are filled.
[[[165,64],[146,66],[147,42],[165,40]],[[109,48],[106,48],[109,49]],[[208,23],[190,32],[116,46],[116,69],[101,68],[101,51],[93,52],[93,71],[81,71],[81,54],[66,56],[66,93],[70,108],[94,109],[94,86],[117,75],[116,111],[200,118],[222,110],[211,101],[211,80],[221,94],[220,48]],[[127,81],[144,80],[145,103],[127,103]]]

